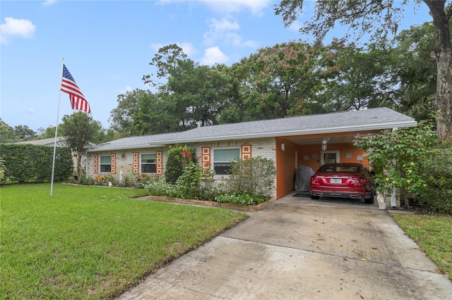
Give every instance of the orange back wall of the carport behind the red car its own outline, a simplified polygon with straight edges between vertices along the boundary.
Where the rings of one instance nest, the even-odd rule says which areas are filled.
[[[339,151],[340,163],[364,163],[369,168],[369,161],[364,157],[364,151],[359,150],[352,144],[328,144],[327,151]],[[298,145],[298,164],[307,165],[314,171],[321,166],[321,144],[319,145]],[[349,156],[349,157],[347,157]],[[362,156],[362,160],[357,160],[357,156]]]

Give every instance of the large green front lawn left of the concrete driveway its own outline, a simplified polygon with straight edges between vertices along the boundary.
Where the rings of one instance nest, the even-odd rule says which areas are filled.
[[[139,189],[0,189],[1,299],[106,299],[246,214],[154,201]]]

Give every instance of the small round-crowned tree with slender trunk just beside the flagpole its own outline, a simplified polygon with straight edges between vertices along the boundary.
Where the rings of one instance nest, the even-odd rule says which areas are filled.
[[[99,121],[93,120],[91,115],[83,111],[77,111],[72,115],[64,115],[63,122],[59,126],[61,135],[64,136],[66,146],[69,146],[77,157],[78,182],[82,177],[81,160],[86,154],[91,143],[100,142],[102,126]]]

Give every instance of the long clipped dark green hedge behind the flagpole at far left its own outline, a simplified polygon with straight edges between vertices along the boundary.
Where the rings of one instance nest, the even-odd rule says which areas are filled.
[[[4,161],[1,183],[46,182],[52,179],[54,147],[33,144],[0,144],[0,159]],[[68,180],[73,175],[71,149],[57,147],[54,181]]]

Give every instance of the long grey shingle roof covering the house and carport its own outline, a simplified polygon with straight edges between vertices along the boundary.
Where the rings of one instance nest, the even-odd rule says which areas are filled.
[[[417,122],[415,119],[393,111],[390,108],[369,108],[362,111],[342,111],[322,115],[301,115],[273,120],[256,120],[244,123],[204,126],[185,132],[173,132],[162,135],[126,137],[96,145],[88,151],[137,149],[167,144],[229,139],[383,130],[394,127],[414,127],[416,125]]]

